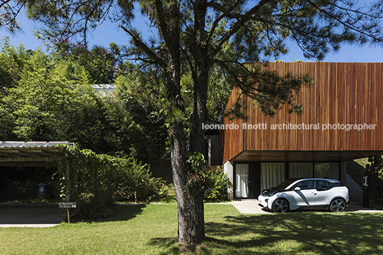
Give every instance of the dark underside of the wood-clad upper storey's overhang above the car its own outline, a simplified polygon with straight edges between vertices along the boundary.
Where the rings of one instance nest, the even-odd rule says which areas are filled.
[[[347,161],[383,155],[383,151],[242,151],[230,161]]]

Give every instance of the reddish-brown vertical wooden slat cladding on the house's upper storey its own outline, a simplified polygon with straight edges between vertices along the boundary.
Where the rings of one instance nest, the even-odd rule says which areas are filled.
[[[246,121],[224,119],[239,129],[224,131],[224,161],[242,151],[382,151],[383,150],[383,64],[382,63],[270,63],[279,74],[309,74],[314,86],[297,93],[302,114],[289,114],[288,107],[274,116],[265,116],[252,99],[247,104]],[[234,89],[228,108],[237,100]],[[244,129],[247,124],[266,124],[267,129]],[[319,129],[272,129],[272,125],[319,124]],[[375,125],[374,129],[338,129],[338,124]],[[336,125],[337,129],[324,129]],[[309,127],[309,126],[307,126]],[[312,126],[313,128],[314,126]],[[342,128],[342,126],[339,126]],[[369,126],[372,127],[372,126]],[[243,136],[242,136],[243,132]],[[242,144],[242,140],[244,144]]]

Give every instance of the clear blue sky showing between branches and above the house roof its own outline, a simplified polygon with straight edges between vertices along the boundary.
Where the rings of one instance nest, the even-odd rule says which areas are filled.
[[[4,30],[0,30],[0,37],[9,36],[11,44],[17,45],[24,43],[26,49],[36,49],[37,46],[42,45],[42,41],[34,38],[33,31],[35,30],[33,22],[26,19],[24,13],[18,17],[19,23],[23,32],[18,34],[8,34]],[[151,34],[145,26],[145,19],[138,15],[135,21],[135,26],[141,29],[145,35]],[[129,37],[126,36],[122,29],[118,29],[115,24],[103,24],[96,29],[89,38],[89,45],[109,46],[111,41],[118,45],[126,45]],[[290,52],[279,58],[282,61],[313,61],[313,59],[305,59],[302,51],[294,44],[289,44]],[[45,49],[44,47],[41,49]],[[329,62],[383,62],[383,48],[382,47],[369,47],[369,46],[349,46],[344,45],[338,53],[330,53],[324,59]]]

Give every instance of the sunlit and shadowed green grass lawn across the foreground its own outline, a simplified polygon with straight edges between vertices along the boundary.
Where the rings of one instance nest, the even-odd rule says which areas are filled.
[[[205,205],[207,240],[177,244],[176,205],[117,206],[103,222],[2,228],[0,254],[383,254],[383,214],[239,214]]]

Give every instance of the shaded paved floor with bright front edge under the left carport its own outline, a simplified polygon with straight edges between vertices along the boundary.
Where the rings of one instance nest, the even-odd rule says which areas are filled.
[[[61,211],[58,204],[0,204],[0,227],[56,226]]]

